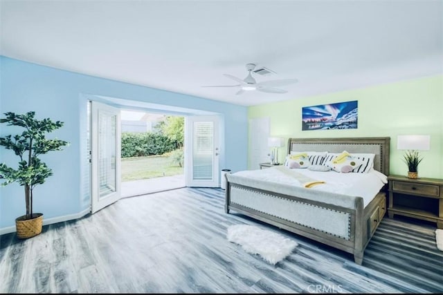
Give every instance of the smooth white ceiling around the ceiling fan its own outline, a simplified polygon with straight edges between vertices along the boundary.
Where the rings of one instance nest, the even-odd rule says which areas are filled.
[[[443,73],[443,1],[0,0],[0,54],[251,106]],[[245,64],[296,78],[237,88]]]

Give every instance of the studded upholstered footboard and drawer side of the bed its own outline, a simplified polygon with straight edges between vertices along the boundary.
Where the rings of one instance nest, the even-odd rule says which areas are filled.
[[[341,249],[352,254],[355,263],[361,265],[364,249],[384,215],[386,206],[381,209],[381,203],[383,200],[386,202],[386,198],[383,197],[384,194],[377,196],[368,204],[368,210],[364,210],[363,198],[360,197],[351,197],[353,206],[338,206],[228,180],[225,211],[234,210]],[[375,215],[377,220],[374,222]]]

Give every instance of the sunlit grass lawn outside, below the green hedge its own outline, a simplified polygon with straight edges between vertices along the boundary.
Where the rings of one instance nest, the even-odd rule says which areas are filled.
[[[167,155],[123,158],[121,164],[123,182],[184,173],[183,167],[173,163]]]

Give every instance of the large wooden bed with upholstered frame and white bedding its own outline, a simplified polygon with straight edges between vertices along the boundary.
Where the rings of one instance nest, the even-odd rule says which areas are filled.
[[[389,149],[390,137],[290,138],[287,154],[305,151],[309,151],[312,155],[326,153],[326,156],[340,155],[344,151],[352,155],[370,154],[373,156],[372,172],[386,176],[389,174]],[[314,162],[314,158],[309,159]],[[281,167],[265,169],[269,171],[257,169],[257,171],[238,171],[224,175],[225,212],[230,213],[232,210],[242,213],[340,249],[352,254],[354,262],[361,265],[365,247],[386,213],[386,184],[383,182],[383,185],[368,198],[360,196],[363,193],[357,196],[346,190],[322,190],[321,188],[327,184],[332,187],[332,180],[328,178],[323,181],[321,178],[312,177],[314,174],[298,173],[306,169],[288,168],[288,163],[285,163]],[[371,171],[371,168],[367,170]],[[274,172],[287,174],[285,176],[287,182],[274,181],[272,176]],[[252,178],[250,176],[255,175],[253,173],[257,175],[261,173],[260,175],[265,177]],[[336,174],[357,177],[357,174],[365,173],[336,172]],[[298,180],[298,186],[289,183],[289,178],[300,175],[302,180]],[[358,187],[359,185],[354,185],[354,189]]]

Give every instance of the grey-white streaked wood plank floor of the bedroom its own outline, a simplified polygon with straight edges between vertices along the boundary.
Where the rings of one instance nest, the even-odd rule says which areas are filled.
[[[269,265],[226,240],[257,225],[298,242]],[[224,213],[221,189],[177,189],[119,200],[19,240],[0,236],[1,293],[442,293],[435,227],[384,218],[363,265],[350,254]]]

